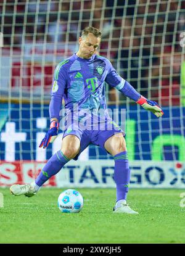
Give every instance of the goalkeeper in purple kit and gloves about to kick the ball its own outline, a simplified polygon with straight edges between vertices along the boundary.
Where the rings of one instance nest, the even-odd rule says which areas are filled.
[[[95,54],[100,43],[101,31],[93,27],[84,28],[79,38],[78,52],[60,62],[55,69],[49,104],[51,125],[39,147],[46,148],[49,142],[57,136],[59,112],[62,99],[64,99],[67,125],[62,147],[47,161],[35,182],[23,185],[14,184],[10,187],[11,194],[15,196],[25,194],[28,197],[35,195],[51,176],[57,174],[71,159],[78,159],[81,152],[92,143],[104,148],[115,161],[116,203],[113,212],[138,213],[126,203],[130,184],[130,167],[124,138],[125,132],[109,117],[105,102],[104,82],[118,89],[157,117],[162,117],[163,112],[156,102],[147,100],[121,78],[108,59]],[[75,110],[76,106],[78,110]],[[103,110],[103,116],[97,114],[99,110]],[[83,119],[79,117],[80,111],[86,112],[88,125],[85,128],[80,122]],[[93,120],[92,123],[89,122],[91,120]],[[102,121],[104,121],[104,129],[99,128]]]

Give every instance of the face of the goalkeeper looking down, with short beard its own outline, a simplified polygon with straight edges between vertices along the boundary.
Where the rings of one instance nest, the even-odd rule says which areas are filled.
[[[81,57],[84,59],[90,59],[91,56],[96,52],[99,43],[101,42],[101,38],[97,38],[92,33],[89,33],[84,38],[79,38],[79,51]]]

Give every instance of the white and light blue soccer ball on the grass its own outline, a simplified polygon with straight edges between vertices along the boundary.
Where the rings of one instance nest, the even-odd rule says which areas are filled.
[[[58,207],[65,213],[80,212],[83,207],[83,197],[75,189],[67,189],[59,195]]]

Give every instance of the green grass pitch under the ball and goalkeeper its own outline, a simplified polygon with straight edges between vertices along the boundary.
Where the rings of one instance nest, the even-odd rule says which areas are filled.
[[[130,189],[128,203],[139,215],[112,213],[115,189],[78,188],[80,213],[61,213],[57,198],[64,189],[42,188],[31,198],[4,194],[0,243],[184,243],[183,189]]]

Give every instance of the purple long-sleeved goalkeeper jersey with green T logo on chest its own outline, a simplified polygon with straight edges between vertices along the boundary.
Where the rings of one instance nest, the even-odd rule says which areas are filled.
[[[57,65],[51,90],[51,104],[49,106],[50,118],[58,118],[62,98],[65,101],[65,110],[74,113],[74,106],[79,110],[88,110],[93,113],[101,111],[105,120],[109,119],[105,99],[105,82],[125,93],[134,88],[126,88],[126,81],[113,68],[108,59],[94,54],[91,59],[83,59],[76,54]],[[126,83],[125,83],[126,82]],[[123,89],[126,89],[125,92]],[[136,95],[135,95],[136,94]],[[126,93],[125,93],[126,95]],[[140,94],[134,90],[134,96],[138,99]]]

